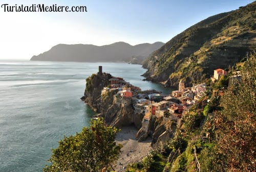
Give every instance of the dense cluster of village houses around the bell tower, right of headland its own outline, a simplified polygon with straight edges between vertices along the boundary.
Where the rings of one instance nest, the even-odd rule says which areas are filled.
[[[194,85],[191,88],[185,88],[183,80],[179,83],[179,90],[173,91],[172,95],[156,95],[155,101],[146,99],[139,99],[134,103],[135,113],[144,114],[142,127],[147,130],[148,121],[152,116],[168,117],[168,118],[181,118],[188,109],[198,100],[202,98],[203,93],[206,91],[206,84]],[[156,99],[156,97],[158,97]],[[158,101],[161,99],[161,101]],[[178,100],[178,101],[177,101]]]

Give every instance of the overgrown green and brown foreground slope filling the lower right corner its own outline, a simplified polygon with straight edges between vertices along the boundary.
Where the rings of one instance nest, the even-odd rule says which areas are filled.
[[[196,171],[195,148],[201,171],[254,171],[256,54],[243,62],[241,81],[221,99],[211,96],[201,113],[202,104],[191,107],[174,138],[126,171]]]

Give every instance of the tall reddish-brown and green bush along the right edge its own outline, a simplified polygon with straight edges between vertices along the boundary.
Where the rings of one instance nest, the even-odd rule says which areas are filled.
[[[247,58],[242,79],[230,85],[215,116],[216,158],[214,171],[256,169],[256,54]]]

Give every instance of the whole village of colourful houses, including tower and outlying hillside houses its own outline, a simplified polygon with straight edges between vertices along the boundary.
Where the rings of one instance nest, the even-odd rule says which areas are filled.
[[[102,73],[102,67],[99,67]],[[222,75],[227,75],[227,72],[222,69],[214,71],[212,82],[218,81]],[[240,79],[241,75],[230,77],[231,81]],[[229,79],[229,80],[230,80]],[[184,80],[180,80],[179,89],[172,91],[169,95],[160,94],[156,90],[141,91],[139,87],[132,85],[130,82],[124,81],[123,78],[113,77],[109,79],[108,87],[104,87],[101,91],[101,96],[108,92],[114,92],[114,103],[127,106],[131,105],[135,114],[143,114],[142,128],[147,130],[148,121],[153,117],[165,118],[181,118],[185,115],[191,106],[201,103],[201,109],[207,105],[208,97],[205,95],[206,83],[196,84],[193,87],[185,88]],[[223,96],[223,91],[216,93]]]

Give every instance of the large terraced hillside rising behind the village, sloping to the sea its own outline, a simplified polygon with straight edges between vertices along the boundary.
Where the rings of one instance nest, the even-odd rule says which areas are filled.
[[[256,50],[256,2],[208,17],[170,39],[148,56],[147,80],[177,88],[204,82],[218,68],[229,68]]]

